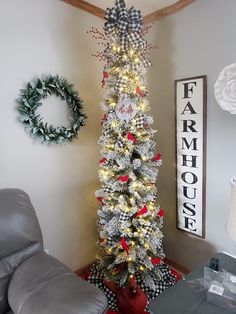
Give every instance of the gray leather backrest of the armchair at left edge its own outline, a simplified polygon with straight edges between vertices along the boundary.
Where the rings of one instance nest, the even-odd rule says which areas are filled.
[[[9,310],[12,274],[42,250],[42,233],[29,196],[19,189],[0,189],[0,313]]]

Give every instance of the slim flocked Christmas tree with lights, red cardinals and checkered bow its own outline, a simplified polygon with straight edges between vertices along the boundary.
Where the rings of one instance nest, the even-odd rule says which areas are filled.
[[[148,113],[151,45],[143,39],[148,28],[142,28],[140,11],[128,10],[123,0],[107,9],[105,19],[105,34],[92,29],[94,37],[106,44],[97,54],[106,62],[102,80],[106,93],[99,140],[101,188],[96,191],[99,254],[92,272],[99,271],[120,287],[135,280],[150,299],[175,281],[163,263],[163,210],[155,185],[161,156]],[[90,281],[99,280],[91,276]]]

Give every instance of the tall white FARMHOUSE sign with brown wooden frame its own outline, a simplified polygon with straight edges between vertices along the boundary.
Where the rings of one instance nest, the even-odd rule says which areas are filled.
[[[206,76],[175,81],[177,228],[205,237]]]

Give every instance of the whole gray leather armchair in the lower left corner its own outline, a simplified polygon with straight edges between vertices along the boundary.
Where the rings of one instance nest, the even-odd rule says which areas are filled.
[[[0,190],[0,314],[102,314],[106,307],[98,288],[43,251],[29,196]]]

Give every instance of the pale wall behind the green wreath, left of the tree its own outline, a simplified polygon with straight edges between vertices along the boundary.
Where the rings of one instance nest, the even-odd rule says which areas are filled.
[[[0,0],[0,187],[29,193],[45,248],[73,269],[96,252],[102,64],[91,56],[98,47],[86,34],[95,23],[102,27],[102,20],[58,0]],[[75,84],[88,120],[71,144],[46,146],[17,121],[15,99],[27,81],[56,73]],[[61,125],[58,101],[50,100],[49,111]]]

